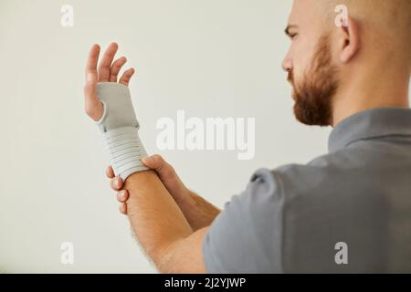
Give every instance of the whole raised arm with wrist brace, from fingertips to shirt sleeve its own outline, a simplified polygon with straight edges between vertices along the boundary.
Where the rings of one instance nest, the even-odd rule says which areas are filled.
[[[100,127],[102,126],[105,134],[111,133],[111,136],[104,137],[106,147],[112,159],[115,158],[119,164],[118,172],[126,178],[124,189],[130,194],[127,203],[130,222],[134,235],[147,255],[163,273],[204,273],[205,264],[201,247],[207,228],[193,232],[157,173],[153,170],[144,170],[136,162],[136,157],[132,156],[137,152],[141,155],[143,152],[136,133],[139,128],[138,121],[132,109],[131,99],[127,96],[127,87],[134,69],[125,70],[119,79],[121,85],[116,85],[121,67],[126,62],[125,57],[113,61],[117,49],[118,45],[112,43],[106,49],[97,68],[100,46],[91,47],[85,72],[86,113],[98,122]],[[109,90],[105,96],[111,98],[110,102],[106,99],[107,103],[103,104],[100,100],[97,92],[98,82],[104,86],[104,90]],[[121,97],[113,97],[114,93],[110,90],[120,90]],[[120,107],[117,107],[118,104]],[[108,126],[111,126],[111,129],[108,129]],[[125,126],[131,127],[119,128]],[[119,129],[120,132],[114,133]],[[140,171],[132,175],[125,173],[131,169]]]

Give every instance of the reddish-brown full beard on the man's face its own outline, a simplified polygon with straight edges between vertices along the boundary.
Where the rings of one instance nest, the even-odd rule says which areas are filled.
[[[322,36],[317,45],[311,68],[305,72],[301,82],[294,83],[293,72],[289,72],[295,100],[294,115],[309,126],[332,125],[332,99],[337,92],[339,79],[332,65],[328,36]]]

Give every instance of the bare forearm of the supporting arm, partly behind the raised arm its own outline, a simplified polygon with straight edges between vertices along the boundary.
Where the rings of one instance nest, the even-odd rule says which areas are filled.
[[[221,212],[215,205],[208,203],[204,198],[192,191],[185,197],[183,202],[178,203],[178,206],[193,231],[211,225],[216,216]]]

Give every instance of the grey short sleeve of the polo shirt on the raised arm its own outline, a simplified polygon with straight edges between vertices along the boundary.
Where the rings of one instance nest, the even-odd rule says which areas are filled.
[[[281,273],[283,196],[276,173],[259,169],[232,196],[203,241],[207,273]]]

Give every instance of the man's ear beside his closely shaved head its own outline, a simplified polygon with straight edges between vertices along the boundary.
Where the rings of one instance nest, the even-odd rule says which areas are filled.
[[[340,60],[342,63],[348,63],[360,49],[360,31],[358,24],[347,16],[347,25],[341,26],[340,29]]]

